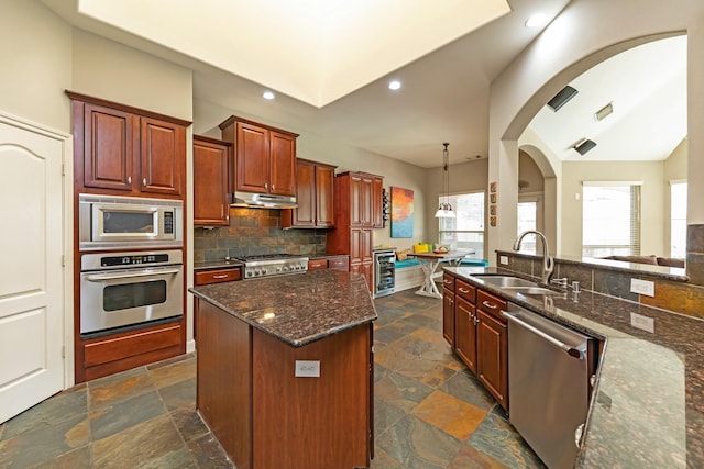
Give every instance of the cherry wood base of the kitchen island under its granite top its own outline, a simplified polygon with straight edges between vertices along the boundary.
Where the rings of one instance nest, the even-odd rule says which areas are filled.
[[[196,304],[198,411],[238,468],[370,466],[371,324],[296,348]],[[296,360],[319,360],[320,377],[296,377]]]

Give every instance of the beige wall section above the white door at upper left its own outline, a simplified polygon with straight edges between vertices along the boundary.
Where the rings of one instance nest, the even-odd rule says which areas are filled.
[[[70,26],[34,1],[0,0],[0,110],[70,133]]]

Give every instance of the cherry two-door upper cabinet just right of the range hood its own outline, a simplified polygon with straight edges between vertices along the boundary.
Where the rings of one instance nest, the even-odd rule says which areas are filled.
[[[282,211],[282,227],[330,228],[334,226],[336,166],[298,158],[297,209]]]

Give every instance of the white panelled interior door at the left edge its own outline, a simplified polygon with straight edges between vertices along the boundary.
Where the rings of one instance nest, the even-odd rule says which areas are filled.
[[[64,384],[65,147],[0,114],[0,423]]]

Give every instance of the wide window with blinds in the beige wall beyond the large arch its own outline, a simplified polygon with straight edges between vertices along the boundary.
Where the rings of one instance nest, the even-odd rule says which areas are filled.
[[[640,182],[584,182],[582,255],[640,254]]]

